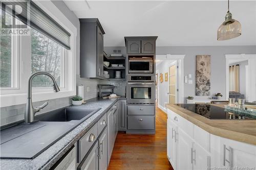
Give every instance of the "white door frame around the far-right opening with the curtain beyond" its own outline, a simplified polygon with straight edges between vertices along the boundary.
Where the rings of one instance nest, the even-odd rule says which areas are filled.
[[[230,59],[245,59],[248,60],[248,72],[250,75],[248,75],[248,90],[250,91],[249,96],[246,96],[246,99],[248,99],[248,102],[256,101],[256,74],[253,74],[256,72],[256,54],[226,54],[226,100],[228,100],[229,97],[229,60]],[[248,98],[247,98],[248,97]]]

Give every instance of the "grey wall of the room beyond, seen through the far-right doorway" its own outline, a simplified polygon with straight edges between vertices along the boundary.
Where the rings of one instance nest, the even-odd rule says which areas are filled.
[[[241,94],[245,95],[245,99],[246,99],[246,81],[245,81],[245,66],[248,65],[248,60],[247,61],[241,61],[241,62],[237,62],[237,63],[233,63],[233,64],[229,64],[229,65],[237,65],[239,64],[239,92]]]

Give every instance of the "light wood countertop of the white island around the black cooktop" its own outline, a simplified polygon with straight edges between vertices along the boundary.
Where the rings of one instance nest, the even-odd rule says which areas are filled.
[[[165,106],[210,134],[256,145],[256,120],[208,119],[177,105]]]

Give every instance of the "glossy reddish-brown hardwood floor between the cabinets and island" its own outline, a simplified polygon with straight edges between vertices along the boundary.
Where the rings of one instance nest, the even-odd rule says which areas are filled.
[[[108,170],[173,169],[166,154],[166,125],[166,113],[157,108],[155,135],[118,132]]]

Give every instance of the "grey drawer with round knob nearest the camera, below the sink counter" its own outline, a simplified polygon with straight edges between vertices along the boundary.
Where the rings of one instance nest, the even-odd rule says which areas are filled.
[[[81,139],[78,140],[78,161],[80,162],[92,147],[98,137],[98,123],[96,123]]]

